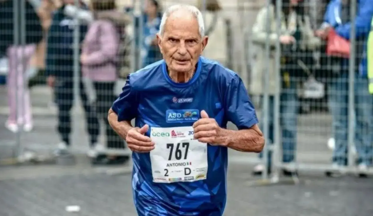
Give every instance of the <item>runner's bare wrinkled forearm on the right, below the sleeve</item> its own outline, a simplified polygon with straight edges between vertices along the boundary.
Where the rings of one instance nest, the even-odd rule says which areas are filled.
[[[216,143],[241,152],[259,153],[264,147],[264,137],[260,130],[255,128],[244,130],[220,129]]]

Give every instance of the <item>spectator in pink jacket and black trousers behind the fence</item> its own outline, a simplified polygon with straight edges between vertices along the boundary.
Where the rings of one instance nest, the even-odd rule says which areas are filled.
[[[107,148],[123,149],[124,141],[109,125],[107,112],[117,98],[114,87],[119,73],[118,51],[124,28],[129,24],[129,17],[116,10],[115,0],[93,0],[91,6],[94,21],[82,46],[82,72],[93,81],[96,110],[106,128]],[[101,145],[97,145],[88,154],[96,158],[95,164],[119,164],[129,159],[129,156],[97,155],[100,147]]]

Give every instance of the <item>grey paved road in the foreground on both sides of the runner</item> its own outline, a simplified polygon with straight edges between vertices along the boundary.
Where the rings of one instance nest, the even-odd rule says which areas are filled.
[[[372,216],[370,179],[303,176],[298,185],[249,187],[231,166],[225,216]],[[70,174],[0,181],[1,216],[136,216],[130,175]],[[80,212],[66,212],[78,205]]]

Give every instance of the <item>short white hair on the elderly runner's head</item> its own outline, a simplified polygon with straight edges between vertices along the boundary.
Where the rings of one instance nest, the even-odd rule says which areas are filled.
[[[198,30],[199,30],[199,33],[200,33],[201,37],[205,36],[205,25],[204,25],[203,16],[202,16],[201,11],[198,10],[197,7],[192,6],[192,5],[188,5],[188,4],[176,4],[176,5],[173,5],[169,8],[167,8],[167,10],[163,13],[161,24],[159,26],[159,34],[160,35],[163,35],[164,25],[166,24],[167,18],[172,13],[176,13],[178,11],[183,11],[183,12],[186,11],[186,12],[189,12],[191,15],[193,15],[197,19],[198,27],[199,27]]]

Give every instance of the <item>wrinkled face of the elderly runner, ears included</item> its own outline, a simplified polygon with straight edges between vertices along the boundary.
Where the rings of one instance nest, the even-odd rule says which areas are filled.
[[[157,41],[170,70],[175,72],[194,71],[208,37],[201,37],[197,19],[187,12],[171,14],[164,26],[163,35]]]

